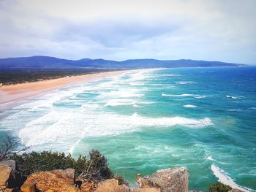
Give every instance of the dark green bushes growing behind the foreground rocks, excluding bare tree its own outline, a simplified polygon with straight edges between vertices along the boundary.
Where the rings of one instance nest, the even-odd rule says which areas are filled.
[[[76,176],[84,179],[100,181],[113,178],[107,158],[97,150],[91,150],[89,156],[80,155],[76,160],[70,154],[51,151],[14,154],[10,158],[18,164],[23,180],[33,172],[67,168],[75,169]]]

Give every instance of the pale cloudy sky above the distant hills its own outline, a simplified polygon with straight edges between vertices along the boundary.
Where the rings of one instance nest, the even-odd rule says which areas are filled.
[[[0,58],[256,64],[255,0],[0,0]]]

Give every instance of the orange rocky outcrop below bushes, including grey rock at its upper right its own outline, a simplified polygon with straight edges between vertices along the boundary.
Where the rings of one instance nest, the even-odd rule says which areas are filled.
[[[36,189],[42,192],[75,192],[76,190],[74,180],[72,180],[72,172],[74,172],[75,175],[74,169],[54,170],[51,172],[34,172],[29,175],[21,188],[26,188],[26,186],[30,186],[31,183],[34,183]]]

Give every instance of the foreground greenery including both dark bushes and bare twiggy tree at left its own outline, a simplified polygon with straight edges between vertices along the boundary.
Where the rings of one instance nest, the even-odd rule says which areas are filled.
[[[124,184],[124,178],[114,176],[113,172],[108,167],[108,160],[98,150],[91,150],[89,155],[80,155],[77,159],[72,155],[57,153],[51,151],[23,153],[27,147],[18,149],[18,139],[7,136],[0,143],[0,161],[13,159],[18,165],[22,180],[25,181],[29,174],[34,172],[44,172],[54,169],[75,169],[76,177],[81,177],[86,180],[102,181],[111,178],[116,178],[118,183]]]

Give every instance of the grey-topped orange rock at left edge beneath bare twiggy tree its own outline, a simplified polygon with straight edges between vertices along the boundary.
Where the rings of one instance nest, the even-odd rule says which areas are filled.
[[[0,186],[6,186],[7,188],[20,188],[22,183],[21,177],[18,166],[14,160],[1,161],[0,172]]]

